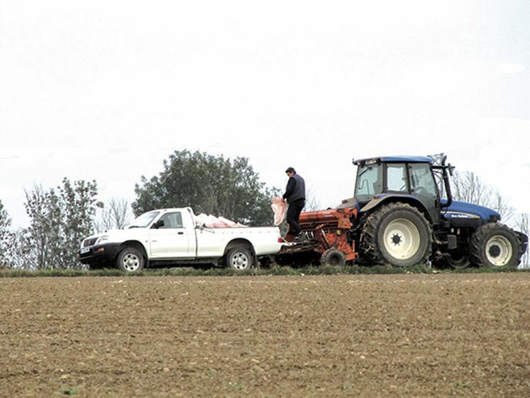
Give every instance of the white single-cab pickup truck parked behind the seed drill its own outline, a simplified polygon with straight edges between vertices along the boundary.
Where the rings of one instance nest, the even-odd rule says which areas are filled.
[[[253,267],[280,251],[276,227],[206,228],[191,208],[159,209],[139,216],[127,229],[85,238],[79,260],[91,268],[116,266],[138,272],[156,263],[214,263],[236,270]]]

